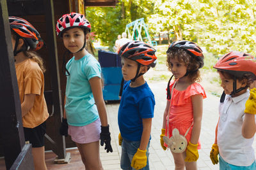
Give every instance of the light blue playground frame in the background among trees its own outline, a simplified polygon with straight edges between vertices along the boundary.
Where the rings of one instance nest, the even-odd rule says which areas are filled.
[[[129,28],[132,27],[132,34],[129,30]],[[151,38],[149,36],[148,33],[148,26],[147,24],[145,24],[144,22],[144,18],[140,18],[138,20],[134,20],[131,23],[127,24],[125,27],[125,32],[127,32],[128,38],[132,39],[132,40],[137,40],[137,41],[143,41],[143,38],[141,36],[141,31],[142,28],[145,31],[145,35],[146,35],[146,39],[147,39],[147,43],[150,45],[157,45],[156,41],[151,41]]]

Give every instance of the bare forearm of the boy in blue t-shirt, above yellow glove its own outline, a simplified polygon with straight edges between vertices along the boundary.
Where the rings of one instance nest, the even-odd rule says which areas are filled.
[[[140,150],[146,150],[148,141],[150,138],[152,118],[143,118],[142,124],[143,124],[143,132],[140,140]]]

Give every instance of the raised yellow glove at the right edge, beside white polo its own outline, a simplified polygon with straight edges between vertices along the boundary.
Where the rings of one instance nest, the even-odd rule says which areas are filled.
[[[250,90],[250,97],[245,103],[244,113],[256,114],[256,88]]]

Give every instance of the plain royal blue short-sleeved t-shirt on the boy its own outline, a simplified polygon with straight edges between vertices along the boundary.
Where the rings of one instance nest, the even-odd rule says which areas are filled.
[[[147,82],[140,87],[130,87],[131,81],[124,85],[118,110],[118,125],[122,138],[140,141],[142,118],[154,117],[155,98]]]

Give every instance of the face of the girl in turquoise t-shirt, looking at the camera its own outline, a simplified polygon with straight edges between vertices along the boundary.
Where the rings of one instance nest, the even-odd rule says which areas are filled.
[[[78,52],[84,45],[84,31],[79,27],[68,29],[63,33],[64,46],[72,53]]]

